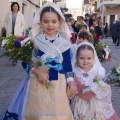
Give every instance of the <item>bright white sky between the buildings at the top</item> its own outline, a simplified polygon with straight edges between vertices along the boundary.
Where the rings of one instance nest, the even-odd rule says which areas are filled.
[[[82,0],[66,0],[67,8],[81,8]]]

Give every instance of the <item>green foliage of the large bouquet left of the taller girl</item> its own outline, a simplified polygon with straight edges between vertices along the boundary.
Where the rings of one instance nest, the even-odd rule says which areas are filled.
[[[13,61],[31,61],[33,50],[33,43],[31,42],[31,40],[28,40],[23,45],[21,45],[22,40],[19,40],[18,37],[12,34],[6,37],[5,40],[7,41],[3,46],[4,53],[0,55],[0,58],[5,56]]]

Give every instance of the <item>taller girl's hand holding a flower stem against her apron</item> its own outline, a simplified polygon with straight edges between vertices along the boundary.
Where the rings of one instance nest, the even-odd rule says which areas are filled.
[[[39,68],[35,68],[31,70],[32,73],[37,75],[38,81],[42,84],[47,83],[49,80],[49,76],[44,71],[40,70]]]

